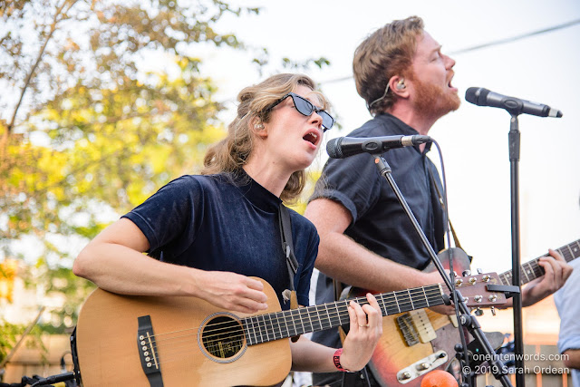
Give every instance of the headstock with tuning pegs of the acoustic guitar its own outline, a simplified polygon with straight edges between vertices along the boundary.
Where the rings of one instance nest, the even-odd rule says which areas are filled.
[[[497,306],[507,303],[502,292],[491,292],[488,285],[502,285],[497,273],[478,274],[477,276],[456,276],[455,288],[469,307]]]

